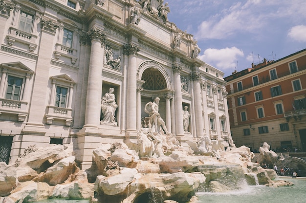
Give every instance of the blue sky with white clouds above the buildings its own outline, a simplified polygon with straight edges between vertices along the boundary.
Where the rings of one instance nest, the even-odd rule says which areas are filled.
[[[194,35],[199,58],[224,72],[306,48],[306,0],[164,0],[169,21]]]

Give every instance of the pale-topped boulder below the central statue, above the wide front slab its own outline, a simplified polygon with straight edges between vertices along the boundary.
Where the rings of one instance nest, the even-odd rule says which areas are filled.
[[[173,151],[170,156],[157,159],[162,173],[193,172],[200,165],[197,156],[188,156],[181,151]]]

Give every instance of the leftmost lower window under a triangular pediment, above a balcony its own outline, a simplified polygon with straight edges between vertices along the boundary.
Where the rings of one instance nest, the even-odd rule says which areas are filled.
[[[7,78],[7,91],[5,98],[12,100],[20,100],[23,79],[9,75]]]

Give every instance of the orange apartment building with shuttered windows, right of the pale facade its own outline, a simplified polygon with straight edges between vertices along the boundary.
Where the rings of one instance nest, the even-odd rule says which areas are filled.
[[[225,77],[233,140],[257,151],[306,151],[306,49]]]

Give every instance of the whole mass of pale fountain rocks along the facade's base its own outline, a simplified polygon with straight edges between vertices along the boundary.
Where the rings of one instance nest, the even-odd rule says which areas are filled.
[[[49,198],[90,199],[92,203],[193,202],[200,188],[211,192],[249,185],[280,186],[276,173],[252,163],[249,148],[220,152],[220,157],[191,155],[175,148],[158,158],[141,157],[124,143],[93,150],[95,167],[80,170],[72,144],[31,148],[14,165],[0,163],[0,195],[7,202]],[[88,183],[88,177],[95,183]],[[92,182],[94,182],[94,180]],[[246,181],[245,181],[246,180]],[[2,199],[3,200],[3,199]]]

